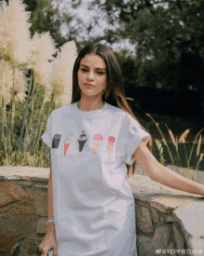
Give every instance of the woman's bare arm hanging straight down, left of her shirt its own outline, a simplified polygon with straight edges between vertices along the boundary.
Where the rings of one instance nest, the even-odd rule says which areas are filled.
[[[50,149],[50,173],[49,173],[49,181],[48,181],[48,188],[47,188],[47,216],[48,216],[48,220],[54,220],[51,149]],[[55,225],[48,225],[46,227],[46,233],[55,234]]]

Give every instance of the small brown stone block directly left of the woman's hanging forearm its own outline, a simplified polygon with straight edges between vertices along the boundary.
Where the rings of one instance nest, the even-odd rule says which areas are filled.
[[[34,205],[39,216],[47,216],[47,193],[35,190]]]

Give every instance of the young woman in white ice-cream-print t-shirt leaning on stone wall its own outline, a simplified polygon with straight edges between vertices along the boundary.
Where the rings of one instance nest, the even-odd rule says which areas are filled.
[[[104,45],[80,52],[71,104],[49,115],[41,138],[51,153],[43,256],[50,249],[58,256],[137,255],[134,196],[125,181],[136,162],[154,181],[204,195],[203,185],[151,154],[150,134],[125,100],[119,63]]]

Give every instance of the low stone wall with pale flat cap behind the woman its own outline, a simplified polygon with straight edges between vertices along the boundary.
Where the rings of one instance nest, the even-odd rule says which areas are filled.
[[[49,168],[0,167],[0,256],[42,254],[48,177]],[[147,175],[127,182],[134,194],[138,256],[204,255],[202,195],[171,189]]]

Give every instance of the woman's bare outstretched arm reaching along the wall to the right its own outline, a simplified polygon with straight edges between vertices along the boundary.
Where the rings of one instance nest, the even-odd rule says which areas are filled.
[[[148,150],[146,142],[141,141],[136,148],[134,159],[141,168],[147,173],[147,176],[155,182],[159,182],[168,187],[185,191],[192,194],[204,195],[204,185],[193,182],[182,175],[174,172],[170,168],[162,166],[158,160]]]

